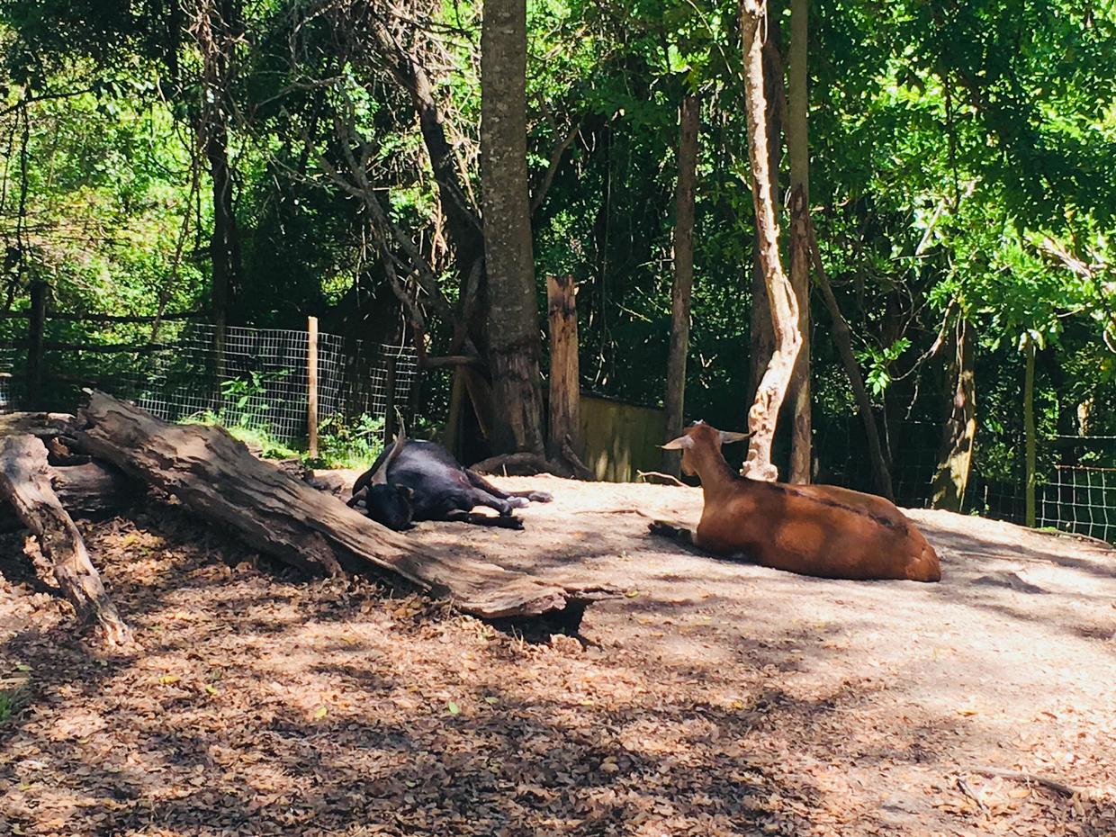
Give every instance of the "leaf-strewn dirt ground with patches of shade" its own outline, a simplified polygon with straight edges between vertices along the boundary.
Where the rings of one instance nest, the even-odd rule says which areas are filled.
[[[1116,834],[1116,552],[914,511],[941,584],[820,580],[650,538],[693,489],[499,482],[556,499],[410,537],[620,586],[585,643],[148,503],[83,525],[143,647],[90,656],[0,538],[0,835]]]

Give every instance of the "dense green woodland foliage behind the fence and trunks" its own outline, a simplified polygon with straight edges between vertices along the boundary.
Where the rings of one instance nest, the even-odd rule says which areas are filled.
[[[768,13],[785,54],[789,11]],[[466,331],[483,348],[460,298],[479,3],[3,0],[0,20],[4,311],[46,280],[59,310],[317,314],[431,354]],[[527,26],[540,310],[545,277],[574,273],[585,387],[662,403],[679,108],[698,96],[686,413],[741,426],[754,248],[735,6],[532,0]],[[896,469],[929,478],[965,340],[985,480],[1018,475],[1029,357],[1042,437],[1116,433],[1114,51],[1110,3],[811,6],[810,210]],[[864,485],[812,308],[818,469]],[[426,419],[449,381],[425,377]]]

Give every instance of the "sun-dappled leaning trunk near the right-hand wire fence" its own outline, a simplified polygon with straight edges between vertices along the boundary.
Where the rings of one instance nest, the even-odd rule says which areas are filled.
[[[973,441],[977,437],[974,344],[973,327],[963,314],[959,314],[950,340],[952,356],[947,373],[953,400],[942,434],[937,470],[931,482],[931,504],[935,509],[961,511],[965,499],[965,487],[972,468]]]

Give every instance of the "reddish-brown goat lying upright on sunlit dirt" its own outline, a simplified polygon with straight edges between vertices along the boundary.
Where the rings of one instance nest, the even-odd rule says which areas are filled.
[[[742,555],[764,567],[821,578],[937,581],[937,555],[882,497],[835,485],[788,485],[737,474],[721,445],[745,439],[695,422],[663,445],[682,451],[682,470],[701,478],[705,506],[698,531],[654,522],[651,531],[690,536],[699,549]]]

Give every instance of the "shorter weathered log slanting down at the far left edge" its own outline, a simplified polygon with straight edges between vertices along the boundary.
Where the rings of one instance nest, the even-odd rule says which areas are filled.
[[[85,541],[50,487],[47,449],[29,433],[0,440],[0,497],[38,538],[62,595],[83,624],[92,623],[107,645],[126,645],[132,632],[105,593]]]

